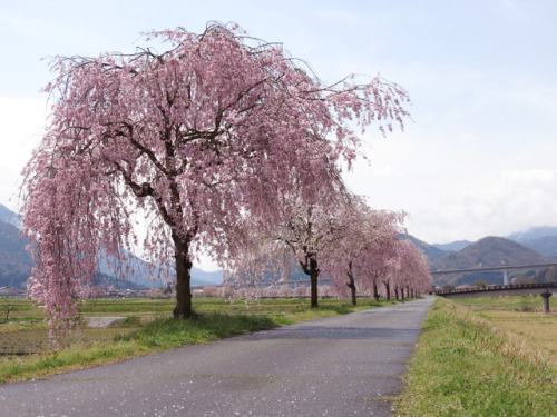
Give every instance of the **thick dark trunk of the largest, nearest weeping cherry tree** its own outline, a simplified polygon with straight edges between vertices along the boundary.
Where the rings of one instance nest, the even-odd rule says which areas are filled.
[[[176,307],[174,308],[174,317],[189,318],[192,317],[192,288],[190,288],[190,271],[192,261],[189,260],[189,245],[179,239],[174,239],[176,247]]]

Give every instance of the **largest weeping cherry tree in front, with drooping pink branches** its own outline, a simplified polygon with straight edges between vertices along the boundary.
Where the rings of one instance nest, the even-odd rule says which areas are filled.
[[[407,92],[380,77],[323,83],[281,44],[236,26],[153,32],[158,52],[59,57],[52,109],[23,176],[29,289],[53,329],[76,322],[100,258],[143,247],[175,275],[175,317],[192,315],[190,268],[242,239],[246,214],[273,221],[273,193],[317,179],[359,152],[354,126],[402,126]],[[295,181],[292,179],[295,178]],[[271,189],[272,188],[272,189]],[[138,241],[136,224],[148,225]]]

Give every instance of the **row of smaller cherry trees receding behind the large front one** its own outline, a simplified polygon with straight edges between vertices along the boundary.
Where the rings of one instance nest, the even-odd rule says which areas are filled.
[[[248,236],[228,259],[228,281],[280,281],[299,266],[310,278],[312,307],[319,304],[320,280],[332,282],[335,294],[353,305],[356,291],[379,299],[381,290],[390,299],[431,289],[426,255],[404,239],[404,212],[373,210],[340,180],[315,196],[302,201],[292,191],[287,198],[281,193],[278,221],[245,219]]]

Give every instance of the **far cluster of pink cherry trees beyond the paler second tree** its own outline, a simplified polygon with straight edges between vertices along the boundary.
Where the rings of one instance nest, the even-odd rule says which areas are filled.
[[[403,211],[373,210],[360,201],[345,216],[345,238],[325,257],[324,272],[339,294],[350,289],[355,305],[356,289],[379,300],[407,291],[407,297],[429,291],[432,278],[426,255],[405,239]],[[380,294],[381,292],[381,294]]]

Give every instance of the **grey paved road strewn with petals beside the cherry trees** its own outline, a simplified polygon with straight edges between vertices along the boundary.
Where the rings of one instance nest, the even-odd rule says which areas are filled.
[[[0,416],[389,416],[432,301],[0,386]]]

